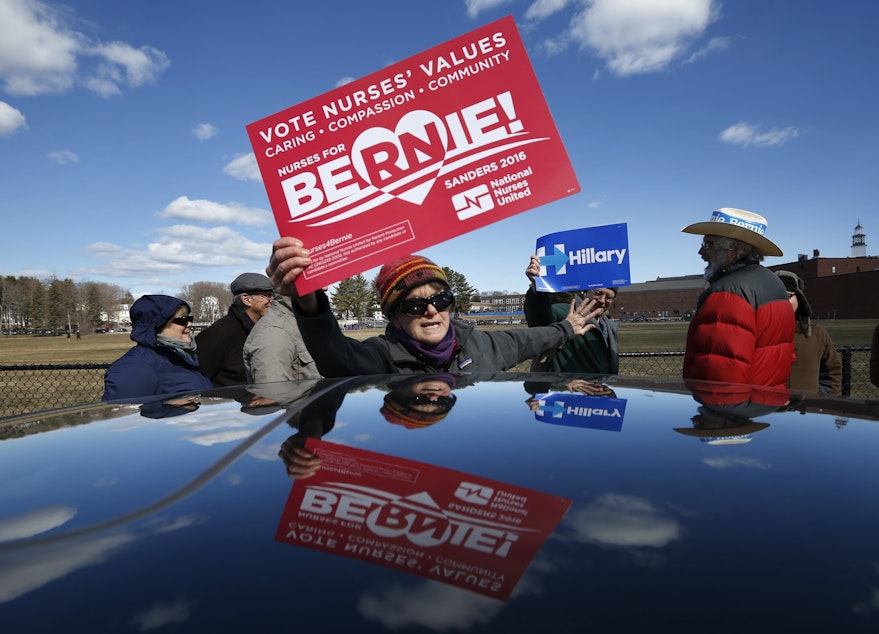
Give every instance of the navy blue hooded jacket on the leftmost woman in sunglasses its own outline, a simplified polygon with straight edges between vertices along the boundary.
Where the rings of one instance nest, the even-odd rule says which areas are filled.
[[[173,348],[163,345],[156,335],[183,300],[169,295],[144,295],[131,305],[131,339],[137,343],[117,359],[104,375],[103,401],[134,399],[159,394],[208,390],[212,387],[198,368]]]

